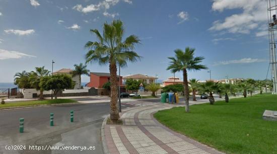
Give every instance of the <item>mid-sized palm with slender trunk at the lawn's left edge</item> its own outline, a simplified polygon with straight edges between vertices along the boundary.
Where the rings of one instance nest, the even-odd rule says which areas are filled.
[[[189,91],[188,91],[188,81],[187,81],[187,71],[207,69],[205,65],[199,64],[202,62],[204,57],[197,56],[194,57],[195,49],[186,47],[185,52],[181,49],[176,49],[175,57],[168,57],[171,61],[167,70],[171,72],[182,71],[183,72],[183,84],[184,84],[184,94],[185,94],[185,106],[186,112],[189,112]]]

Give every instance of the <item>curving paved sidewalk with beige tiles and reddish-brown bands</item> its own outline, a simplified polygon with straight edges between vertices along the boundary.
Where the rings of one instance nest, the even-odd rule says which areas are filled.
[[[153,113],[174,106],[159,104],[123,111],[120,115],[123,125],[104,125],[109,151],[106,153],[222,153],[168,129],[153,118]]]

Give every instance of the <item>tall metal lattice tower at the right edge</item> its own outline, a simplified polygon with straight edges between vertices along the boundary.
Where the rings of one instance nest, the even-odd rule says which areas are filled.
[[[273,94],[277,94],[277,66],[276,66],[276,44],[277,39],[277,0],[267,0],[268,37],[269,37],[269,58],[272,66]]]

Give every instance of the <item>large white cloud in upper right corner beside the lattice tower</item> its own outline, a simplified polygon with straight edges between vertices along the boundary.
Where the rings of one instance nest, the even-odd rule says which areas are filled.
[[[209,29],[229,33],[249,34],[267,21],[266,0],[213,0],[213,11],[242,9],[241,14],[233,14],[224,21],[217,20]]]

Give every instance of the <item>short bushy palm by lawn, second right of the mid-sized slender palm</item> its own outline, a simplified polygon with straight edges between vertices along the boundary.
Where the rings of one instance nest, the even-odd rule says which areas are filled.
[[[209,101],[211,105],[214,105],[215,98],[213,96],[213,92],[217,90],[217,83],[214,83],[214,81],[206,81],[204,84],[200,85],[200,91],[203,93],[209,94]]]

